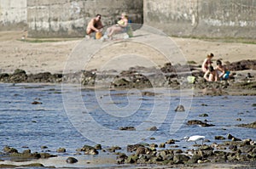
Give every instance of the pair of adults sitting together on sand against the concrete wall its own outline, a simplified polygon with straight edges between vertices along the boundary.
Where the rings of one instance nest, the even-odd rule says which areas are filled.
[[[129,22],[128,15],[125,13],[122,13],[121,18],[117,22],[117,24],[108,27],[107,31],[104,33],[104,36],[102,37],[102,31],[103,31],[104,25],[102,25],[101,19],[102,19],[102,15],[96,14],[96,17],[90,20],[86,28],[87,38],[90,38],[91,33],[96,32],[96,39],[98,38],[112,39],[113,34],[116,34],[119,32],[125,32],[125,29],[128,26],[128,22]]]

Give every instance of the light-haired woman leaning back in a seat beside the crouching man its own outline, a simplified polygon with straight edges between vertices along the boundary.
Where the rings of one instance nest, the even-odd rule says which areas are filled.
[[[123,13],[121,14],[121,19],[118,21],[117,24],[108,27],[107,31],[105,32],[104,38],[112,39],[113,34],[124,32],[128,26],[128,15]]]

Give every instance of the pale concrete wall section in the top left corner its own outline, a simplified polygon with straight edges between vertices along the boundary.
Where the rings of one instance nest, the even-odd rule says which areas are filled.
[[[0,0],[0,31],[26,29],[26,0]]]

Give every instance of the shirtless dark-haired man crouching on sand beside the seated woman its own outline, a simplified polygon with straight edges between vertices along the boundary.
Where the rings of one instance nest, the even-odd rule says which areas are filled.
[[[86,35],[90,38],[90,34],[94,31],[99,32],[102,31],[102,15],[96,14],[96,17],[91,19],[86,28]]]

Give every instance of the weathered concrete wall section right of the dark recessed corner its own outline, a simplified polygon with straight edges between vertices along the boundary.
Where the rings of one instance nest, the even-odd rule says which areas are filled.
[[[256,0],[144,0],[143,11],[172,36],[256,38]]]

